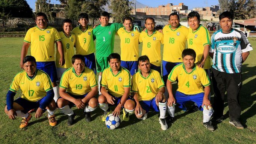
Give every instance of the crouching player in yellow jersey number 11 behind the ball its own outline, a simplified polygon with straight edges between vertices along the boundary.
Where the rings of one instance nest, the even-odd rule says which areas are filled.
[[[102,95],[98,97],[99,106],[104,111],[102,121],[112,112],[109,104],[116,105],[112,112],[116,116],[123,108],[123,120],[129,121],[129,113],[135,109],[135,102],[130,98],[130,72],[120,66],[121,57],[117,53],[110,54],[108,62],[110,66],[104,69],[100,81]]]

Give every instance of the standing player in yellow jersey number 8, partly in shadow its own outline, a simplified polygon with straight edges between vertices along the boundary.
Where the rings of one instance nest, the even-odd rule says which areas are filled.
[[[65,19],[63,21],[63,31],[59,32],[59,35],[61,37],[61,43],[63,46],[63,53],[65,58],[65,64],[60,65],[57,61],[61,55],[59,54],[59,51],[56,52],[56,69],[57,69],[57,76],[58,76],[58,85],[61,80],[62,74],[70,67],[72,67],[71,58],[74,55],[74,44],[76,43],[76,36],[71,33],[72,30],[72,21],[70,19]],[[54,98],[55,102],[57,101],[59,97]]]

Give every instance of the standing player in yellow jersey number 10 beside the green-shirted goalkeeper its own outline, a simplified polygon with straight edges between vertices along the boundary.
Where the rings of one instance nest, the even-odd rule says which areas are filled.
[[[139,57],[139,31],[133,31],[132,18],[123,19],[124,28],[119,28],[117,34],[120,36],[121,66],[130,71],[133,76],[138,71]]]

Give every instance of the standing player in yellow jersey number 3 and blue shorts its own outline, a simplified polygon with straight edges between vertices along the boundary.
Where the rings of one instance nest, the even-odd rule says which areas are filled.
[[[85,66],[92,69],[96,74],[95,63],[95,45],[92,36],[92,26],[88,26],[89,18],[86,13],[80,13],[78,16],[79,27],[75,27],[72,31],[76,35],[76,54],[85,57]]]

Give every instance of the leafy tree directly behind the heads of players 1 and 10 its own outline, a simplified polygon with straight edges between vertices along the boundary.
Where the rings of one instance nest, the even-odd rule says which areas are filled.
[[[112,17],[115,23],[122,23],[123,18],[130,15],[131,4],[129,0],[111,0],[109,8],[113,10]]]

